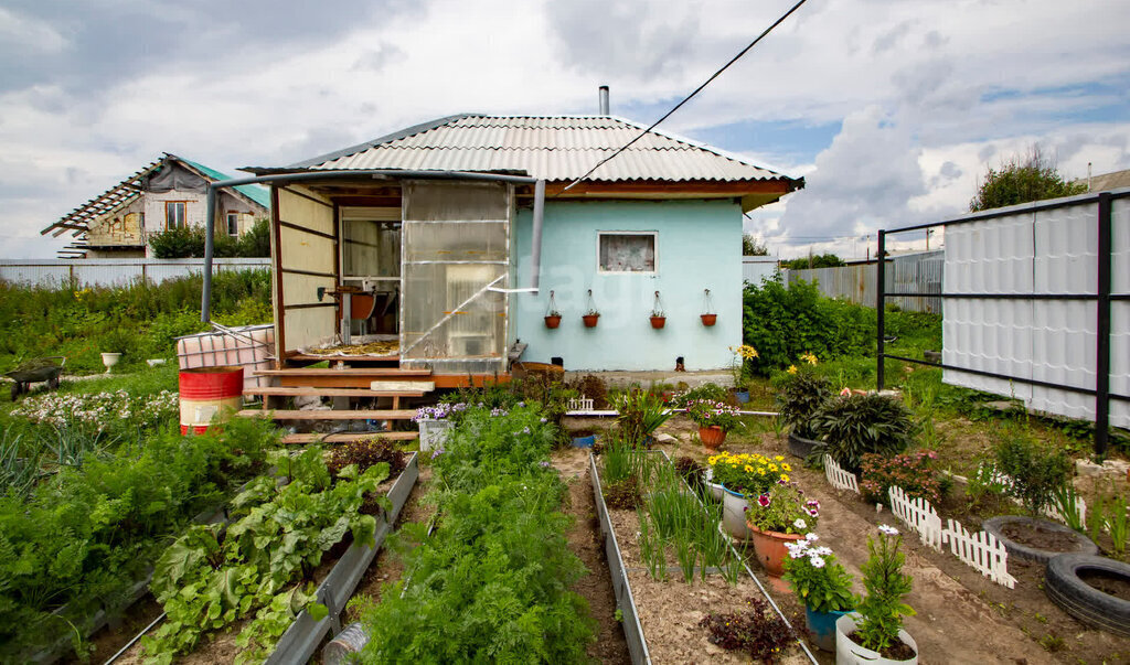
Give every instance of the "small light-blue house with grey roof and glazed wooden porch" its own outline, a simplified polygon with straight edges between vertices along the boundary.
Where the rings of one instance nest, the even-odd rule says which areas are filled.
[[[437,387],[515,360],[729,367],[742,213],[803,181],[645,129],[461,114],[245,169],[271,190],[280,365],[370,344]]]

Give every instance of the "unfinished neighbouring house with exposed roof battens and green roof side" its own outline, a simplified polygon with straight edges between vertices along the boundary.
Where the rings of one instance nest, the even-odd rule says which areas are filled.
[[[214,168],[176,155],[164,157],[79,205],[41,233],[75,242],[60,257],[132,259],[149,256],[148,236],[205,221],[208,183],[229,180]],[[217,234],[243,235],[255,219],[270,215],[270,196],[259,185],[225,190],[218,199]]]

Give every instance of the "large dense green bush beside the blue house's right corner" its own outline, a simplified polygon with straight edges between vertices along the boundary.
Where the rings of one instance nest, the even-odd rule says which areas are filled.
[[[757,349],[754,373],[791,365],[803,353],[819,358],[862,356],[875,348],[875,312],[820,295],[803,280],[785,288],[777,280],[747,285],[742,340]]]

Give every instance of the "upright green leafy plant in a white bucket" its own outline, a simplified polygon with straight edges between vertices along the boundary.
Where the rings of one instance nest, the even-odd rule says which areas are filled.
[[[903,602],[911,593],[911,576],[902,571],[906,557],[898,550],[898,530],[879,525],[879,537],[869,537],[871,557],[860,569],[867,597],[855,612],[836,621],[836,663],[918,663],[918,644],[905,630],[903,618],[914,609]]]

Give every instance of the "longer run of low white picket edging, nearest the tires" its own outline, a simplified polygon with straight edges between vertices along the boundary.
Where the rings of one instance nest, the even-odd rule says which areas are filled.
[[[916,532],[923,543],[940,552],[948,542],[949,551],[981,575],[1008,588],[1016,586],[1016,578],[1008,574],[1008,551],[991,533],[980,531],[971,535],[953,519],[947,519],[946,528],[942,528],[933,506],[921,497],[907,497],[902,488],[890,488],[887,497],[890,499],[890,511]]]

